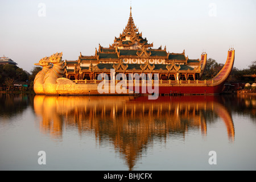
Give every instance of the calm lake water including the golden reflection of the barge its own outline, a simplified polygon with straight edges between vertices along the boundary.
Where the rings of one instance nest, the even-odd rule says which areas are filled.
[[[255,118],[255,96],[0,94],[0,170],[255,170]]]

